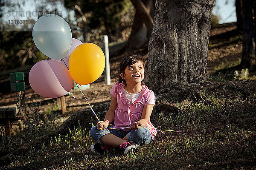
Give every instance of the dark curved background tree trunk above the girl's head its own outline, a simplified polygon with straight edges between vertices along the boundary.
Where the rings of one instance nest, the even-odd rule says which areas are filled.
[[[141,48],[148,43],[151,35],[153,0],[131,0],[136,9],[131,34],[125,48]]]

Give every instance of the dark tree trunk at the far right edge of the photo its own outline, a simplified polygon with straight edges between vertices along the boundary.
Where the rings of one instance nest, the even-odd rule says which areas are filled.
[[[243,57],[241,67],[249,70],[255,69],[256,45],[256,0],[243,0]]]

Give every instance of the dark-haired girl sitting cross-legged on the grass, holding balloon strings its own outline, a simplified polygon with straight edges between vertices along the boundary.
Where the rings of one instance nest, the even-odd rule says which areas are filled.
[[[119,81],[113,85],[111,102],[104,121],[92,127],[90,134],[98,143],[91,145],[93,153],[103,153],[111,147],[124,149],[124,155],[139,144],[154,140],[157,131],[150,122],[154,92],[144,85],[144,59],[133,55],[120,63]],[[117,129],[105,129],[114,120]],[[118,129],[118,127],[128,127]]]

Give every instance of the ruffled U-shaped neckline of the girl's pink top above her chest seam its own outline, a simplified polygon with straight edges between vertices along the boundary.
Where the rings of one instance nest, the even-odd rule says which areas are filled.
[[[145,92],[146,92],[146,89],[148,87],[143,85],[142,86],[142,90],[140,92],[140,95],[135,99],[135,100],[129,100],[127,99],[127,97],[125,96],[125,83],[122,83],[121,84],[121,88],[120,88],[120,91],[119,91],[119,95],[121,96],[121,100],[122,102],[125,104],[125,105],[130,105],[131,103],[132,104],[135,104],[136,102],[141,102],[141,99],[143,98],[143,96],[145,95]]]

